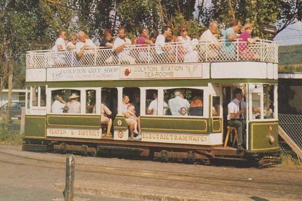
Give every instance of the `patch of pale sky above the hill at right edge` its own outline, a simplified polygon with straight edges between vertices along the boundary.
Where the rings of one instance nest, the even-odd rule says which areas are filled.
[[[276,35],[274,41],[278,45],[302,44],[302,22],[287,26],[286,29]]]

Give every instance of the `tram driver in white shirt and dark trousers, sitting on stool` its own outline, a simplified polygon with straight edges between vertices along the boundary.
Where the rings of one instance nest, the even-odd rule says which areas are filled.
[[[238,142],[237,149],[243,150],[243,131],[246,126],[246,108],[247,105],[243,100],[242,90],[239,88],[234,89],[233,94],[235,99],[228,105],[228,116],[229,125],[237,128]]]

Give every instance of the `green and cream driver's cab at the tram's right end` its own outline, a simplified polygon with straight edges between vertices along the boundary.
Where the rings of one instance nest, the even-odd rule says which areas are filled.
[[[235,98],[233,90],[240,88],[246,102],[246,128],[243,132],[244,145],[247,150],[255,151],[276,148],[277,144],[277,84],[239,83],[221,86],[221,110],[223,142],[228,127],[228,105]],[[214,103],[212,103],[214,104]],[[273,135],[275,141],[268,142],[264,138]],[[263,141],[261,141],[263,140]],[[232,146],[232,139],[229,145]]]

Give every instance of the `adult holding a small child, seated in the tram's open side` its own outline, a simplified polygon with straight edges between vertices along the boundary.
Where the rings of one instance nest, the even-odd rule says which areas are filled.
[[[131,105],[129,103],[130,99],[127,95],[123,95],[123,104],[122,104],[122,113],[127,121],[127,124],[129,126],[129,130],[130,130],[130,137],[129,139],[141,139],[141,135],[140,135],[140,119],[137,118],[137,126],[139,129],[139,133],[136,137],[134,137],[134,126],[135,126],[135,122],[133,122],[133,120],[131,119],[131,114],[128,112],[128,107],[129,105]]]

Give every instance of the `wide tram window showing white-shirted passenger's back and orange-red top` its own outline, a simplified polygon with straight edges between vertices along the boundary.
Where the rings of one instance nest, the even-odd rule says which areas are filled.
[[[164,115],[203,116],[203,90],[191,88],[164,90]]]

